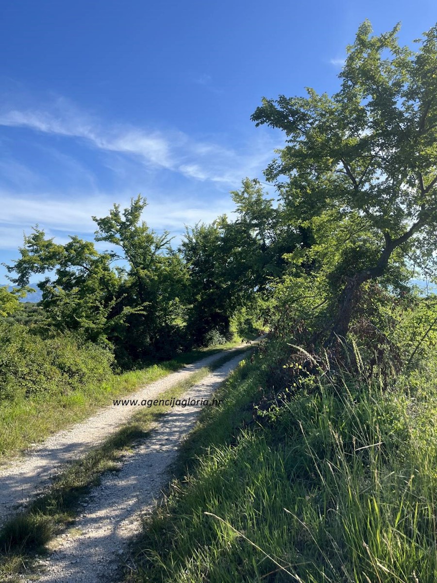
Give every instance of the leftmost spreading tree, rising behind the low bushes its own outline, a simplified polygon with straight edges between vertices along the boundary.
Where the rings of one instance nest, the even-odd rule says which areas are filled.
[[[26,290],[32,274],[44,275],[38,287],[52,328],[105,342],[115,326],[124,325],[129,309],[121,305],[122,279],[111,269],[111,254],[98,253],[93,243],[77,236],[65,245],[54,243],[36,226],[24,236],[20,255],[6,265],[17,275],[9,279]]]

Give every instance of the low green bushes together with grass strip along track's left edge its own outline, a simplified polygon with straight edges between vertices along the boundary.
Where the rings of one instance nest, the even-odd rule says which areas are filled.
[[[72,335],[43,340],[21,326],[0,323],[0,338],[0,462],[89,417],[113,398],[239,344],[238,339],[114,373],[106,347],[83,345]]]

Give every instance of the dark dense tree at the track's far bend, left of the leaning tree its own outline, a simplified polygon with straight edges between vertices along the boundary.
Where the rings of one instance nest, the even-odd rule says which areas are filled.
[[[295,238],[283,213],[267,198],[258,180],[245,178],[231,192],[234,221],[224,215],[213,224],[187,229],[181,252],[189,272],[191,309],[188,327],[196,343],[216,329],[230,335],[231,318],[243,308],[256,308],[270,278],[284,269],[283,254]]]

